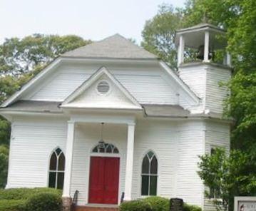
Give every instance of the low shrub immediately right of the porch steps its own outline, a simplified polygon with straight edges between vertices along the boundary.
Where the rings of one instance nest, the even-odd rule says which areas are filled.
[[[120,207],[120,211],[153,211],[150,204],[145,200],[133,200],[129,202],[123,202]]]

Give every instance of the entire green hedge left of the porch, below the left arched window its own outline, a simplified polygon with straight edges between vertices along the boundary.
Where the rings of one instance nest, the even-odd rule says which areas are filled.
[[[61,211],[61,190],[51,188],[0,190],[0,211]]]

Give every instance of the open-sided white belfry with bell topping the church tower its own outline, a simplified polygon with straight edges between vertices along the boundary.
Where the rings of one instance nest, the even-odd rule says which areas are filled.
[[[212,24],[198,24],[176,31],[175,45],[178,46],[178,67],[183,63],[216,63],[215,53],[227,46],[225,31]],[[186,61],[185,53],[194,51],[192,61]],[[191,54],[191,53],[190,53]],[[225,52],[222,64],[231,66],[231,56]],[[219,62],[218,62],[219,63]]]

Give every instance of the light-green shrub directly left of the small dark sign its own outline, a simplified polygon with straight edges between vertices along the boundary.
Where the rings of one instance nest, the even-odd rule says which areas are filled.
[[[144,200],[151,205],[153,211],[168,211],[170,208],[170,202],[165,197],[151,196]]]

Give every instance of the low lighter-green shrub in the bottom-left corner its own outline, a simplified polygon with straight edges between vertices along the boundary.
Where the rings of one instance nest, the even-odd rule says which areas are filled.
[[[26,200],[0,200],[0,211],[24,211]]]

